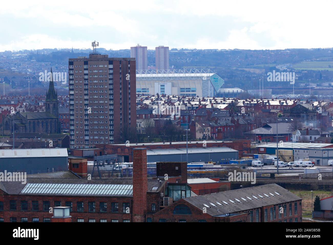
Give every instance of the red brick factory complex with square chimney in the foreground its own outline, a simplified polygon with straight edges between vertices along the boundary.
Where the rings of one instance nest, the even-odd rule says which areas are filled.
[[[26,183],[0,182],[0,222],[56,221],[50,207],[70,207],[71,222],[302,221],[302,199],[276,184],[197,196],[186,162],[157,163],[158,176],[147,178],[145,148],[133,149],[133,178],[82,178],[86,161],[71,164]]]

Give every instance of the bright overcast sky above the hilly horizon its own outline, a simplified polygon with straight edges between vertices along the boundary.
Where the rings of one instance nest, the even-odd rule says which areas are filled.
[[[0,51],[333,47],[333,1],[2,1]]]

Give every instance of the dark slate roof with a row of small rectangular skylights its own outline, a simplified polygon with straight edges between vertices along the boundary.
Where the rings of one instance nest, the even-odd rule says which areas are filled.
[[[280,195],[276,194],[275,192],[279,193]],[[274,196],[269,193],[272,193]],[[267,197],[264,194],[267,194],[270,197]],[[252,197],[253,195],[258,199]],[[261,198],[258,195],[261,195],[264,198]],[[252,200],[246,197],[250,197]],[[235,198],[241,202],[238,202],[235,200]],[[244,201],[241,198],[244,198],[247,201]],[[268,205],[298,201],[302,200],[302,198],[296,196],[295,194],[289,192],[277,184],[268,184],[196,197],[188,197],[184,198],[184,200],[199,208],[200,210],[205,207],[203,204],[206,204],[209,206],[209,208],[206,207],[207,213],[209,215],[220,216],[223,214],[245,211],[248,209],[261,208]],[[229,200],[232,200],[234,203],[230,202]],[[229,205],[224,204],[223,201],[229,203]],[[222,205],[219,205],[216,202],[219,202]],[[209,203],[213,203],[215,206]]]

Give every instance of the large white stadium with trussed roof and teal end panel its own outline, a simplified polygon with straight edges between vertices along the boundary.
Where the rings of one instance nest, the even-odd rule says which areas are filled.
[[[137,94],[213,97],[224,80],[210,69],[137,70]]]

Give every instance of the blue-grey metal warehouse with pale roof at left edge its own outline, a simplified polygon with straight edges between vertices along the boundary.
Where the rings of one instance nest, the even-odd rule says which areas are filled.
[[[0,172],[27,174],[68,170],[66,148],[0,150]]]

